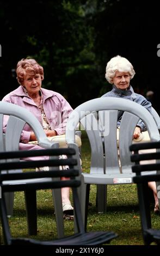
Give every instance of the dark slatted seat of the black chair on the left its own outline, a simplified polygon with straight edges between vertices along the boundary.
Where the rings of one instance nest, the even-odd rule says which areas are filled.
[[[75,234],[53,241],[37,241],[34,239],[13,239],[12,245],[100,245],[100,243],[110,242],[117,237],[112,231],[96,231],[83,234]]]

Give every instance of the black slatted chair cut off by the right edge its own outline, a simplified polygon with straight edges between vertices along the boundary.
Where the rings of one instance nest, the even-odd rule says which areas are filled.
[[[156,149],[156,153],[139,154],[139,150]],[[150,201],[149,201],[149,181],[160,181],[160,142],[137,143],[130,146],[134,152],[131,161],[135,162],[132,172],[136,173],[133,181],[137,184],[139,210],[141,218],[141,228],[145,245],[151,242],[160,244],[160,230],[153,229],[151,223]],[[140,161],[156,160],[155,163],[140,164]],[[157,171],[155,173],[155,170]],[[152,171],[152,174],[145,175],[145,172]],[[158,186],[158,182],[157,182]]]

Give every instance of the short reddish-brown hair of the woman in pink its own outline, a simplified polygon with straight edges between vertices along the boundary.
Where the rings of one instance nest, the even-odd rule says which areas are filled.
[[[21,84],[21,86],[23,86],[24,76],[26,75],[26,73],[31,75],[40,74],[41,80],[44,80],[44,69],[36,62],[35,59],[21,59],[17,63],[17,81],[19,82],[19,84]]]

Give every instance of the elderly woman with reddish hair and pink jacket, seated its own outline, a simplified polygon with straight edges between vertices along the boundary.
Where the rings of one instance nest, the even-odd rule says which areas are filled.
[[[16,74],[20,86],[4,96],[2,101],[27,108],[40,121],[47,137],[64,134],[67,118],[73,109],[59,93],[41,88],[44,80],[42,66],[35,59],[22,59],[17,63]],[[4,132],[7,121],[8,118],[5,117]],[[34,132],[25,125],[21,135],[20,149],[41,149],[39,145],[29,143],[32,141],[36,141]],[[69,188],[62,188],[61,196],[64,216],[72,219],[73,207],[69,199]]]

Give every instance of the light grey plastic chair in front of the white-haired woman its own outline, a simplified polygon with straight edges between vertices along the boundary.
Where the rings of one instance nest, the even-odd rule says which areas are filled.
[[[119,139],[117,137],[118,112],[122,115]],[[71,113],[66,126],[66,142],[76,148],[75,128],[78,122],[87,132],[91,148],[90,173],[82,173],[81,205],[85,227],[90,184],[97,185],[97,208],[106,211],[107,184],[133,183],[131,152],[134,129],[138,120],[144,121],[151,141],[159,140],[157,123],[143,106],[117,97],[101,97],[79,105]],[[158,120],[159,121],[159,120]]]

